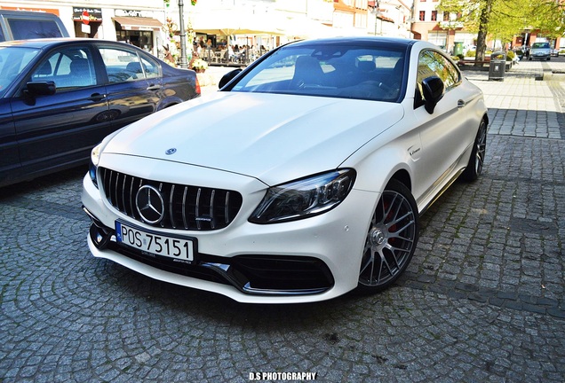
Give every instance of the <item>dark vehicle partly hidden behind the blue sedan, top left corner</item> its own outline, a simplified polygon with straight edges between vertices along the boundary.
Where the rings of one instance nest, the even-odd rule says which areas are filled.
[[[67,28],[55,14],[0,9],[0,42],[68,36]]]

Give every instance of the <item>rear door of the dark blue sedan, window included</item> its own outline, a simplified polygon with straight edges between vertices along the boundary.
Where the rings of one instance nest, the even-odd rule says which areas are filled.
[[[113,129],[154,113],[162,98],[159,66],[127,45],[99,44],[107,72],[107,98]]]

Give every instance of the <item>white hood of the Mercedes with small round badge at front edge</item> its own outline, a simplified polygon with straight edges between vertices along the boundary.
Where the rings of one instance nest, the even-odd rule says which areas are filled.
[[[101,155],[170,160],[273,185],[338,168],[402,115],[394,103],[216,92],[131,124]]]

